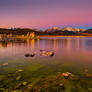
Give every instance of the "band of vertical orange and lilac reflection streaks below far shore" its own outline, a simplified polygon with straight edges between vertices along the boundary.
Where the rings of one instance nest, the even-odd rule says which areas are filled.
[[[35,49],[65,50],[92,50],[92,38],[41,38],[40,40],[29,40],[21,42],[0,42],[1,48],[25,47],[33,51]]]

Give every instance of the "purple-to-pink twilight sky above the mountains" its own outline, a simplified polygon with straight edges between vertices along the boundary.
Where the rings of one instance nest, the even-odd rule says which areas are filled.
[[[0,27],[92,27],[92,0],[0,0]]]

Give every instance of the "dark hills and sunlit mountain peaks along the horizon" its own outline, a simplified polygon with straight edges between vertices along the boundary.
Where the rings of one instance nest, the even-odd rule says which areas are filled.
[[[29,28],[11,28],[5,29],[0,28],[0,34],[15,34],[15,35],[26,35],[27,33],[34,32],[36,35],[92,35],[92,29],[79,29],[79,28],[50,28],[45,31],[39,29],[29,29]]]

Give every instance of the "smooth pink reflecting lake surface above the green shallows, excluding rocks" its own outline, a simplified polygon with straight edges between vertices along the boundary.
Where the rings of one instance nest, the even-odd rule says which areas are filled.
[[[53,50],[53,58],[41,57],[39,50]],[[26,53],[36,52],[34,58],[25,58]],[[57,37],[39,40],[29,40],[20,42],[0,42],[0,63],[2,62],[20,62],[27,61],[40,64],[61,64],[65,63],[66,67],[87,67],[91,71],[92,64],[92,38],[91,37]],[[67,63],[72,62],[71,65]],[[28,63],[28,62],[27,62]],[[29,64],[29,63],[28,63]],[[58,67],[57,67],[58,68]]]

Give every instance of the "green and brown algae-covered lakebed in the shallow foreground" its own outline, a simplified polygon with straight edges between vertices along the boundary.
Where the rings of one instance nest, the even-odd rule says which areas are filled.
[[[31,67],[32,68],[32,67]],[[27,68],[29,70],[29,68]],[[71,76],[65,79],[62,72],[57,74],[41,75],[40,70],[36,68],[33,71],[25,69],[17,69],[15,72],[0,74],[0,90],[9,92],[91,92],[92,79],[86,77],[81,78],[79,75]],[[10,69],[9,69],[10,70]],[[28,73],[28,75],[26,75]],[[43,71],[42,71],[43,73]],[[44,73],[45,74],[45,73]],[[82,75],[82,74],[81,74]],[[28,79],[27,79],[28,78]],[[26,91],[24,91],[26,90]]]

